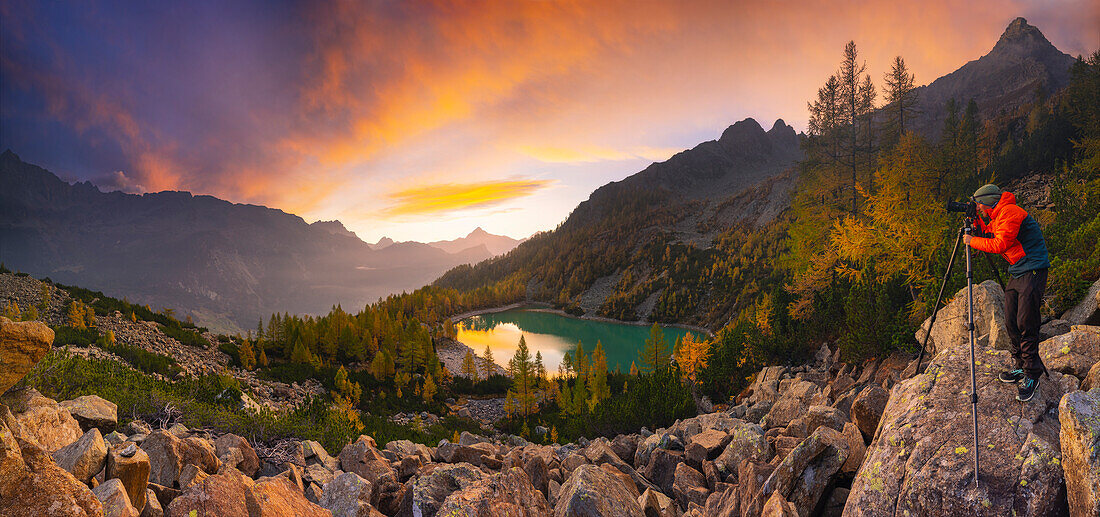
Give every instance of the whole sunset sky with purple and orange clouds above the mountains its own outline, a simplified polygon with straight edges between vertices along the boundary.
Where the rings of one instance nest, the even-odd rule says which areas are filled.
[[[189,190],[367,241],[553,229],[593,189],[755,118],[805,129],[855,40],[881,87],[1100,2],[0,0],[0,148],[102,190]]]

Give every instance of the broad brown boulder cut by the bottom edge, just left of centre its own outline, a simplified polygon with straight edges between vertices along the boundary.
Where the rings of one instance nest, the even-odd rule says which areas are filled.
[[[437,515],[539,517],[550,512],[546,497],[527,474],[513,466],[452,492]]]

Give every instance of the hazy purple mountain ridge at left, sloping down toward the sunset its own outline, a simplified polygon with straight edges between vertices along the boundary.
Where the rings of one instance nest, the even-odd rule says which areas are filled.
[[[231,331],[415,289],[493,256],[417,243],[372,250],[339,221],[185,191],[101,193],[0,154],[0,261]]]

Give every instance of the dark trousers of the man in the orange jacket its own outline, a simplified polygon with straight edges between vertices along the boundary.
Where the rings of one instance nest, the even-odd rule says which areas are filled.
[[[1044,290],[1045,268],[1009,278],[1009,285],[1004,286],[1004,323],[1012,341],[1012,358],[1016,360],[1016,367],[1032,378],[1038,378],[1046,371],[1038,356],[1038,328],[1042,323],[1038,308],[1043,305]]]

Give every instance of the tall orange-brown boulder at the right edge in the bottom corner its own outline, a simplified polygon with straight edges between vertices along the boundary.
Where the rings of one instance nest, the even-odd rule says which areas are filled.
[[[1100,515],[1100,389],[1066,394],[1058,420],[1069,514]]]

